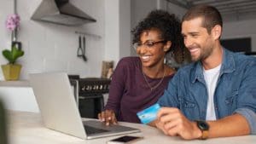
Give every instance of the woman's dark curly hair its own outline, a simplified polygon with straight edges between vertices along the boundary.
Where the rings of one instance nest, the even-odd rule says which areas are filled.
[[[166,54],[166,58],[168,59],[169,56],[174,55],[177,63],[182,63],[185,56],[185,49],[180,20],[174,14],[169,14],[164,10],[153,10],[131,31],[133,34],[132,43],[139,43],[141,34],[151,29],[159,30],[161,34],[160,38],[172,42],[171,49],[168,52],[169,54]]]

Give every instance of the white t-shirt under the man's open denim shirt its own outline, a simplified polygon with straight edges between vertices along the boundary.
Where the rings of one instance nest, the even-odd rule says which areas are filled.
[[[207,83],[207,93],[208,93],[206,120],[216,120],[213,95],[214,95],[214,92],[216,89],[216,84],[218,81],[220,67],[221,67],[221,65],[218,65],[215,68],[212,68],[210,70],[204,69],[204,71],[203,71],[204,78]]]

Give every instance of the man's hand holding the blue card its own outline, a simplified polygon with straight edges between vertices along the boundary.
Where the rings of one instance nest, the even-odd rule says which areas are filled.
[[[166,135],[179,135],[186,140],[196,139],[202,135],[195,122],[189,121],[179,109],[173,107],[162,107],[157,113],[155,125]]]

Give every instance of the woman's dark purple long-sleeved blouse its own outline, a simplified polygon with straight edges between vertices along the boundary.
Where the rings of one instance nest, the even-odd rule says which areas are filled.
[[[138,57],[125,57],[119,60],[113,72],[106,109],[115,112],[118,121],[141,123],[137,112],[150,107],[167,88],[173,75],[166,76],[162,83],[151,91],[143,78],[142,63]],[[161,78],[149,78],[151,87],[160,83]]]

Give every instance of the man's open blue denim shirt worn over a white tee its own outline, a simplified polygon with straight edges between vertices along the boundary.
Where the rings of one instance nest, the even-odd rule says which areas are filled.
[[[224,49],[224,58],[214,92],[216,118],[240,113],[256,134],[256,58]],[[177,107],[190,120],[206,119],[207,84],[201,62],[180,68],[158,103]]]

